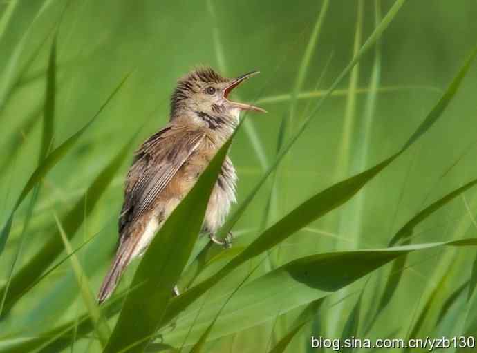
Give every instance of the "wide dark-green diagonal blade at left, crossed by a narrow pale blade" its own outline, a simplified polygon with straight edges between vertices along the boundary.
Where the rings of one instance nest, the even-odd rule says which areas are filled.
[[[127,157],[127,152],[131,148],[137,134],[138,133],[135,133],[135,135],[131,137],[127,144],[125,144],[119,153],[115,155],[115,158],[113,158],[113,160],[104,167],[101,173],[97,175],[95,180],[93,180],[88,187],[85,197],[80,198],[73,209],[62,217],[62,225],[64,225],[65,232],[69,237],[72,237],[77,229],[81,227],[84,221],[84,216],[87,217],[95,208],[95,204],[100,200],[102,194],[106,191],[106,188],[113,180],[114,175],[118,172],[118,169],[120,169],[120,166]],[[85,203],[88,205],[86,208],[86,215],[84,213]],[[48,240],[48,242],[46,242],[46,244],[43,245],[34,256],[32,256],[28,263],[26,263],[26,265],[24,265],[24,267],[22,267],[12,279],[4,307],[5,312],[8,312],[13,305],[24,296],[24,294],[28,293],[28,290],[37,283],[41,274],[50,267],[55,258],[57,258],[62,251],[62,241],[59,238],[59,234],[55,232],[50,240]],[[5,293],[6,288],[1,288],[0,295],[5,295]]]

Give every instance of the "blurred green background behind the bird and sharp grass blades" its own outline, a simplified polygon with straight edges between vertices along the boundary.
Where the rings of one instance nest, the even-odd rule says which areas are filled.
[[[330,1],[312,47],[302,93],[319,94],[332,84],[352,59],[353,47],[362,45],[375,28],[376,3],[382,15],[393,5],[387,0]],[[269,0],[2,1],[0,75],[5,80],[13,70],[15,84],[0,106],[1,225],[8,220],[22,187],[37,167],[46,68],[55,30],[54,146],[84,126],[122,77],[131,75],[73,150],[44,178],[15,260],[28,199],[21,205],[0,257],[0,285],[8,282],[14,260],[13,274],[56,231],[54,213],[61,216],[71,209],[142,126],[140,137],[130,146],[127,162],[72,240],[75,248],[100,232],[95,247],[77,253],[89,287],[97,292],[117,239],[115,222],[122,205],[122,182],[133,150],[167,122],[169,96],[176,80],[198,64],[212,66],[228,77],[261,71],[235,93],[242,101],[256,102],[269,112],[247,116],[232,145],[231,158],[240,179],[238,202],[243,201],[274,159],[279,128],[284,119],[290,119],[290,110],[292,124],[286,137],[317,104],[318,97],[314,97],[298,99],[296,106],[290,106],[289,96],[282,99],[281,95],[292,94],[297,84],[322,5],[321,1]],[[234,245],[240,248],[250,243],[261,227],[273,224],[311,195],[395,153],[436,104],[476,44],[476,18],[477,2],[472,0],[404,3],[384,32],[379,50],[368,51],[359,61],[354,81],[348,75],[340,82],[337,95],[326,99],[314,112],[312,124],[277,169],[274,187],[270,179],[234,227]],[[376,55],[379,66],[375,64]],[[386,247],[393,233],[420,209],[476,178],[476,67],[471,67],[458,95],[427,135],[344,207],[270,251],[253,277],[301,256]],[[369,95],[368,89],[373,68],[378,75],[375,96]],[[475,236],[476,210],[477,194],[467,191],[419,225],[412,242]],[[391,302],[367,336],[404,338],[424,309],[432,314],[423,319],[418,336],[462,333],[469,305],[465,294],[452,302],[439,325],[434,316],[469,279],[474,256],[471,248],[436,249],[409,256]],[[252,260],[238,274],[245,274],[261,260]],[[366,313],[374,312],[389,268],[387,265],[373,272],[366,284],[363,324],[357,336],[365,335]],[[130,279],[132,272],[125,277]],[[446,274],[449,276],[442,285],[441,278]],[[242,277],[232,277],[221,286],[236,287]],[[127,281],[122,281],[122,287]],[[359,280],[328,296],[312,323],[293,339],[288,352],[316,352],[309,347],[311,335],[340,336],[365,283],[366,279]],[[429,302],[438,285],[442,285],[439,298]],[[425,307],[426,303],[432,303],[431,307]],[[0,322],[0,338],[41,335],[84,310],[71,264],[66,261],[21,298]],[[291,311],[245,330],[214,336],[207,351],[267,352],[288,332],[296,315]],[[171,344],[180,346],[182,338],[172,334],[170,339]],[[91,335],[78,336],[75,341],[75,351],[100,350]],[[165,343],[169,343],[167,336]]]

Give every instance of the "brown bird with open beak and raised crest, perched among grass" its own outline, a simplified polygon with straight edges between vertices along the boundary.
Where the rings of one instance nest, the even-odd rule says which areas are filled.
[[[236,86],[258,73],[251,71],[230,79],[201,66],[178,80],[171,95],[169,122],[135,151],[127,173],[118,249],[97,295],[98,303],[111,296],[127,265],[144,254],[167,217],[234,133],[241,111],[266,112],[229,99]],[[227,155],[201,229],[212,242],[225,247],[230,247],[231,234],[219,240],[216,231],[236,202],[236,182],[236,171]],[[177,287],[174,293],[179,294]]]

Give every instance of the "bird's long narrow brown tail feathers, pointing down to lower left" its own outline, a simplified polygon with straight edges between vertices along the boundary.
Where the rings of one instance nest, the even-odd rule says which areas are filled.
[[[133,238],[129,238],[127,240],[124,240],[120,244],[120,247],[118,249],[118,252],[116,253],[116,256],[113,260],[113,263],[111,264],[111,267],[109,268],[108,274],[106,274],[106,277],[103,280],[103,283],[101,285],[100,292],[97,294],[97,302],[102,303],[104,300],[109,298],[111,294],[113,294],[113,291],[115,287],[118,285],[119,279],[124,272],[124,269],[126,266],[129,264],[131,260],[131,255],[133,254],[134,250],[134,242]]]

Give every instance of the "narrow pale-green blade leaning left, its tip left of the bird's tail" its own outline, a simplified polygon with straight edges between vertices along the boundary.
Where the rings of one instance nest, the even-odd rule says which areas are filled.
[[[88,277],[84,273],[81,263],[79,262],[77,256],[73,253],[73,247],[71,247],[71,243],[68,240],[68,236],[64,232],[61,222],[58,219],[58,216],[55,213],[55,222],[57,224],[59,235],[62,238],[64,248],[66,249],[66,254],[69,256],[69,260],[71,263],[71,267],[73,272],[75,273],[75,277],[78,283],[78,287],[82,294],[82,298],[84,300],[84,304],[88,309],[89,316],[93,320],[95,332],[97,336],[100,338],[100,342],[102,347],[104,347],[108,341],[109,335],[111,334],[109,331],[109,326],[107,321],[104,320],[102,314],[100,312],[99,307],[97,307],[95,297],[93,292],[91,292],[91,288],[89,287]],[[69,237],[71,238],[71,236]]]

